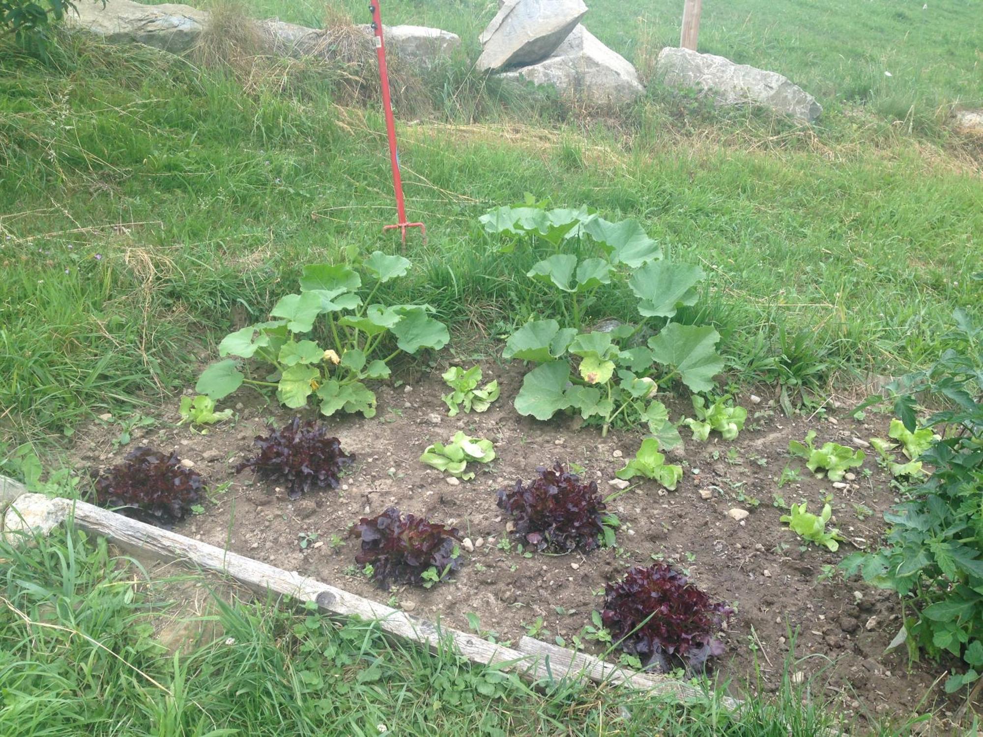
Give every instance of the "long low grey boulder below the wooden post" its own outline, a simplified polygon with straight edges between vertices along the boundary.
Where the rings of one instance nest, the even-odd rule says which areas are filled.
[[[723,56],[666,47],[656,65],[666,85],[696,87],[719,105],[764,105],[810,123],[823,112],[815,97],[777,72],[734,64]]]

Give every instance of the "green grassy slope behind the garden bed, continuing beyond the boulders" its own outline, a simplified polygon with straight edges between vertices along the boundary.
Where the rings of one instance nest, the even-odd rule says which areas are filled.
[[[806,19],[808,8],[796,7],[789,18]],[[905,22],[884,4],[864,7],[879,30],[856,25],[854,42],[887,48],[881,33],[900,33]],[[360,8],[349,10],[357,18]],[[836,24],[856,20],[850,8],[842,4]],[[291,9],[280,15],[320,17],[319,6]],[[905,47],[905,58],[963,58],[975,42],[969,5],[930,10],[917,17],[945,24],[943,45]],[[411,20],[400,16],[411,11],[416,22],[462,32],[465,56],[485,23],[469,5],[429,2],[392,6],[392,21]],[[789,74],[800,65],[832,85],[852,84],[862,65],[830,66],[849,48],[827,48],[819,29],[833,15],[811,12],[815,23],[803,27],[814,35],[787,36],[756,26],[764,14],[748,12],[737,26],[708,9],[704,37],[708,50],[762,64],[725,38],[775,39],[760,41],[760,51],[778,49],[785,60],[794,49]],[[592,17],[629,56],[639,50],[632,39],[650,52],[669,40],[668,16],[649,18],[641,35],[630,14],[604,4]],[[715,40],[723,32],[715,28],[731,30]],[[824,32],[840,27],[831,28]],[[220,46],[217,54],[234,56]],[[808,130],[718,113],[658,85],[620,119],[579,119],[549,94],[499,89],[467,64],[454,60],[424,80],[424,122],[400,127],[408,206],[430,240],[411,241],[415,277],[392,297],[430,302],[458,334],[489,338],[489,350],[517,321],[550,310],[523,276],[534,256],[499,257],[476,223],[526,192],[636,217],[672,257],[702,264],[711,274],[702,308],[683,318],[719,327],[737,380],[812,372],[825,385],[837,375],[895,373],[938,352],[954,308],[979,310],[979,282],[968,278],[983,255],[974,236],[983,232],[978,158],[944,129],[909,132],[824,99],[824,127]],[[398,248],[380,232],[393,213],[375,103],[340,107],[351,90],[323,66],[273,64],[245,81],[241,68],[215,66],[84,37],[65,38],[48,65],[2,55],[0,433],[8,441],[51,439],[93,413],[159,403],[212,356],[217,331],[260,318],[303,264],[350,245]],[[978,83],[964,84],[971,59],[951,61],[948,76],[932,68],[919,89],[951,102],[955,89],[978,93]],[[594,316],[629,316],[609,297]]]

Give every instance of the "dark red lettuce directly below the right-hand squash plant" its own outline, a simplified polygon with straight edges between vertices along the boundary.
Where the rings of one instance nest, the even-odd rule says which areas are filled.
[[[593,550],[605,534],[605,503],[597,482],[585,483],[556,463],[536,469],[539,479],[498,490],[498,506],[515,518],[515,531],[538,550]]]

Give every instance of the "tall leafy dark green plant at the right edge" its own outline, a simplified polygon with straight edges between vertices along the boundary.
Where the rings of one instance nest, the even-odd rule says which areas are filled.
[[[887,387],[906,430],[892,423],[896,439],[907,440],[906,454],[931,466],[932,475],[885,514],[891,529],[883,547],[841,564],[847,575],[859,573],[900,596],[905,616],[896,640],[905,642],[912,658],[919,652],[962,657],[967,670],[950,678],[949,691],[975,681],[983,670],[983,350],[981,329],[968,315],[957,311],[955,322],[932,368]],[[944,409],[917,429],[921,396]],[[863,406],[881,401],[871,398]],[[927,432],[933,433],[931,445],[921,450]]]

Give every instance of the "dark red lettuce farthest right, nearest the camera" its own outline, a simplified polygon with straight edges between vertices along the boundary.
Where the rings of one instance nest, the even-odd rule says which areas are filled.
[[[632,568],[621,582],[607,585],[602,620],[618,647],[638,655],[647,668],[667,672],[674,655],[699,671],[708,657],[723,652],[714,636],[732,614],[671,566],[656,563]]]

